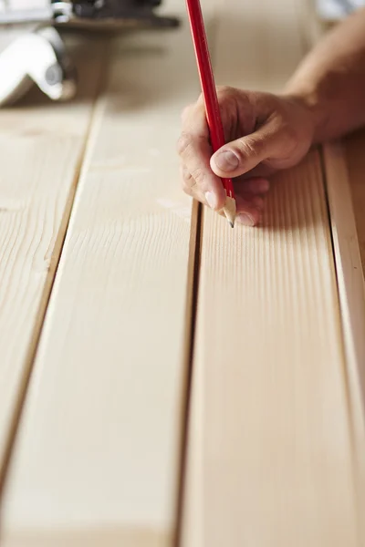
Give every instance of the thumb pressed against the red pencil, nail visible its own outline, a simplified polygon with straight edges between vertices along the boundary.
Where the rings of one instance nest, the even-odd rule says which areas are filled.
[[[280,157],[282,149],[279,131],[266,126],[217,150],[211,158],[211,168],[218,177],[238,177],[261,161]]]

